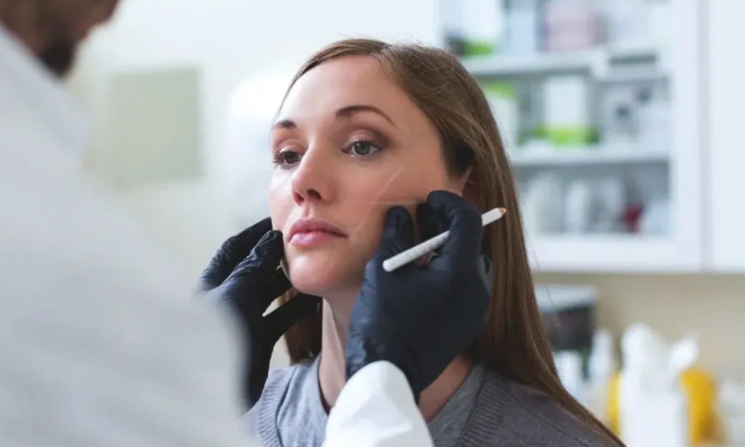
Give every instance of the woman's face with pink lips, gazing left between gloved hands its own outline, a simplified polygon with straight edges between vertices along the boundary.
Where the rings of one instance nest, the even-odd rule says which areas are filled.
[[[387,209],[460,193],[437,130],[371,57],[330,60],[288,94],[271,133],[273,226],[297,290],[356,291]]]

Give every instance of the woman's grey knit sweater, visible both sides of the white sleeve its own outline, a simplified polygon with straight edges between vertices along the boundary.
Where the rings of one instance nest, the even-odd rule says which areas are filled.
[[[247,420],[262,445],[320,447],[326,416],[318,416],[317,377],[309,377],[312,364],[302,363],[270,372],[264,393]],[[313,371],[313,373],[316,373]],[[316,373],[317,374],[317,373]],[[462,422],[455,445],[516,447],[604,447],[611,444],[586,423],[559,407],[539,391],[486,372],[473,405]],[[302,383],[300,383],[302,382]],[[316,388],[313,388],[316,387]],[[462,397],[462,396],[461,396]],[[454,398],[451,398],[451,400]],[[452,410],[453,402],[446,408]],[[460,402],[458,406],[463,406]],[[311,408],[299,408],[311,407]],[[448,415],[449,416],[449,415]],[[440,417],[440,415],[438,415]],[[308,419],[312,420],[308,420]],[[303,428],[305,427],[305,428]],[[312,433],[308,427],[314,428]],[[322,428],[323,428],[322,427]],[[432,425],[429,425],[432,431]],[[302,433],[300,433],[302,431]],[[434,433],[433,433],[434,436]],[[434,439],[436,445],[440,445]],[[449,441],[449,440],[448,440]],[[449,442],[448,442],[449,444]]]

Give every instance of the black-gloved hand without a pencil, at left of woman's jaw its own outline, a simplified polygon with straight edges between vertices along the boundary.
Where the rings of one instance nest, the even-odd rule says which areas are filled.
[[[261,397],[279,337],[320,303],[318,297],[300,294],[264,317],[274,299],[291,286],[277,268],[283,253],[282,233],[272,230],[266,218],[225,241],[197,286],[208,297],[226,302],[238,319],[245,345],[242,376],[247,408]]]

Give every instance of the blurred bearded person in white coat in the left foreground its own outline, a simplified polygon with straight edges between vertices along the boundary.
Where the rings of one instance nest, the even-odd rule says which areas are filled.
[[[222,321],[80,173],[62,80],[116,6],[0,0],[0,445],[240,445]]]

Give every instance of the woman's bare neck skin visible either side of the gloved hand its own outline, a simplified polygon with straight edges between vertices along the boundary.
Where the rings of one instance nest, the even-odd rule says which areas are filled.
[[[334,305],[323,300],[323,324],[321,337],[321,358],[318,366],[318,381],[326,410],[332,408],[341,389],[346,383],[345,355],[346,331],[349,325],[349,315],[352,305],[337,305],[351,303],[353,299],[334,299]],[[426,421],[437,416],[440,409],[455,393],[457,387],[466,379],[472,369],[472,363],[463,355],[459,355],[446,367],[440,377],[424,391],[419,399],[419,410]]]

